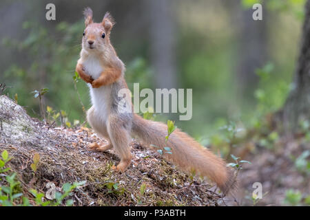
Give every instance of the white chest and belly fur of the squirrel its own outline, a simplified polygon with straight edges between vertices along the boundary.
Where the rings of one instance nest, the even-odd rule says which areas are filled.
[[[92,78],[99,78],[101,72],[103,72],[103,67],[99,61],[94,57],[89,57],[83,62],[85,72],[90,74]],[[102,122],[107,122],[107,117],[110,115],[110,96],[112,85],[102,86],[99,88],[93,88],[89,83],[90,87],[90,97],[92,100],[92,105],[94,106],[94,111],[96,118],[99,118]]]

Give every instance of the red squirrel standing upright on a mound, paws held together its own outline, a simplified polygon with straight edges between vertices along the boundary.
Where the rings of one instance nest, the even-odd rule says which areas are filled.
[[[172,154],[165,155],[167,159],[172,159],[184,170],[196,170],[200,175],[209,177],[224,193],[228,192],[235,182],[234,172],[227,168],[223,159],[180,129],[176,129],[166,143],[166,124],[145,120],[133,111],[119,111],[118,91],[127,89],[127,84],[124,78],[125,65],[110,43],[114,19],[107,12],[101,23],[94,23],[90,8],[86,8],[83,14],[85,30],[76,72],[90,87],[92,107],[87,111],[87,122],[99,136],[109,141],[106,145],[90,144],[90,148],[98,151],[114,148],[121,158],[114,170],[123,172],[132,160],[130,137],[135,135],[147,146],[169,146]],[[131,100],[127,102],[132,104]]]

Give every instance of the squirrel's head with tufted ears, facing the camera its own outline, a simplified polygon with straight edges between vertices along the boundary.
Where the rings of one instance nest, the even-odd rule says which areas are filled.
[[[109,12],[106,12],[101,23],[94,23],[90,8],[85,8],[83,14],[85,17],[85,30],[83,32],[82,47],[87,52],[102,52],[107,45],[110,45],[110,32],[115,24],[114,19]]]

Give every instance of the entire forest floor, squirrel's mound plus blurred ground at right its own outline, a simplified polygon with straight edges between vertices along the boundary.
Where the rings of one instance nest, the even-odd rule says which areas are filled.
[[[45,195],[49,183],[61,192],[63,184],[79,181],[85,183],[68,197],[73,206],[309,205],[309,137],[302,133],[271,142],[268,133],[242,140],[240,151],[231,152],[251,164],[245,163],[240,170],[234,195],[222,198],[214,184],[184,173],[135,140],[131,144],[132,164],[125,173],[116,173],[112,166],[119,158],[113,150],[102,153],[87,147],[93,142],[106,143],[92,130],[45,124],[30,118],[13,100],[0,96],[0,153],[6,150],[12,157],[6,164],[10,170],[1,173],[0,166],[0,192],[2,186],[8,186],[8,175],[17,173],[15,190],[32,205],[37,203],[30,189]],[[39,162],[34,170],[36,155]],[[256,182],[262,184],[262,199],[253,201]],[[43,200],[48,199],[45,196]],[[21,202],[20,197],[13,204]]]

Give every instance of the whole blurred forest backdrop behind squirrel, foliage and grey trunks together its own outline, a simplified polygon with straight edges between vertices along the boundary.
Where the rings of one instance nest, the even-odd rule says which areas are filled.
[[[45,19],[47,3],[56,5],[56,21]],[[262,21],[252,19],[254,3],[263,5]],[[292,87],[304,3],[4,0],[0,83],[33,117],[42,115],[32,91],[47,88],[46,117],[66,126],[83,123],[83,105],[88,109],[90,98],[86,84],[74,79],[74,69],[84,29],[82,11],[90,6],[95,21],[106,11],[116,20],[111,41],[127,67],[130,89],[133,83],[140,83],[140,89],[193,89],[192,120],[178,121],[177,114],[158,114],[154,120],[175,120],[225,157],[234,147],[231,138],[242,137],[249,128],[263,130],[260,146],[272,147],[279,134],[266,131],[264,123],[266,115],[285,104]],[[301,123],[309,129],[309,121]]]

